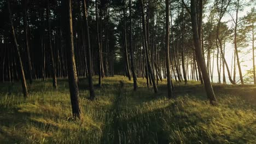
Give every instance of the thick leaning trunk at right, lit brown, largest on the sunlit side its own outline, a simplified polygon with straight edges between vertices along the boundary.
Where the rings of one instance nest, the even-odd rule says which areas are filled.
[[[200,0],[202,1],[202,0]],[[202,3],[200,3],[202,4]],[[205,90],[207,93],[207,97],[210,100],[210,103],[212,105],[217,103],[217,100],[215,98],[215,94],[213,92],[213,88],[211,85],[211,81],[210,78],[207,74],[207,69],[206,69],[206,64],[205,64],[205,59],[203,59],[203,55],[202,55],[202,49],[201,49],[201,41],[199,38],[199,34],[197,31],[197,22],[196,22],[196,2],[195,0],[191,0],[191,5],[190,5],[190,9],[191,9],[191,23],[192,23],[192,29],[193,29],[193,39],[194,39],[194,45],[195,45],[195,53],[196,53],[196,57],[198,60],[198,64],[200,65],[200,69],[202,72],[202,77],[203,77],[203,82],[205,85]],[[199,6],[200,13],[202,13],[202,5]]]

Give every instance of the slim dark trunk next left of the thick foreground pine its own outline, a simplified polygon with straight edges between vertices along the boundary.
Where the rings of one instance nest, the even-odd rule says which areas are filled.
[[[49,42],[49,50],[50,50],[50,65],[51,65],[51,75],[53,77],[53,87],[57,88],[57,78],[56,78],[56,69],[54,63],[54,56],[53,56],[53,47],[51,45],[51,25],[50,25],[50,2],[47,2],[47,11],[46,17],[48,21],[48,42]]]

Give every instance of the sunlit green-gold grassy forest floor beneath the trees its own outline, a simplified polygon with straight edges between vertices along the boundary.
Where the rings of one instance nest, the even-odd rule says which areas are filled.
[[[120,81],[124,87],[120,87]],[[97,77],[94,77],[97,83]],[[158,94],[138,79],[138,91],[123,76],[95,86],[79,79],[82,120],[73,121],[67,79],[28,85],[0,83],[0,143],[256,143],[256,86],[213,84],[218,106],[211,106],[203,86],[174,83],[175,99],[166,98],[166,81]]]

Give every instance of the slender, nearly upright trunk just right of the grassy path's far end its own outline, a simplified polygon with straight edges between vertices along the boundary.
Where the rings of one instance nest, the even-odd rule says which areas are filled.
[[[131,19],[131,0],[129,0],[129,12],[130,12],[130,55],[131,55],[131,70],[132,70],[132,79],[133,79],[133,91],[137,90],[137,77],[135,73],[135,67],[134,67],[134,54],[132,50],[132,19]]]

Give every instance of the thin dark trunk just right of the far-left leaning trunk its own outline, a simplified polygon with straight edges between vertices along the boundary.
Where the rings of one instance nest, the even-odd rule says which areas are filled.
[[[30,57],[30,46],[28,44],[28,32],[27,32],[27,0],[24,0],[23,8],[23,20],[24,20],[24,32],[26,38],[26,50],[27,50],[27,62],[28,62],[28,74],[30,75],[30,83],[32,83],[32,64]]]

